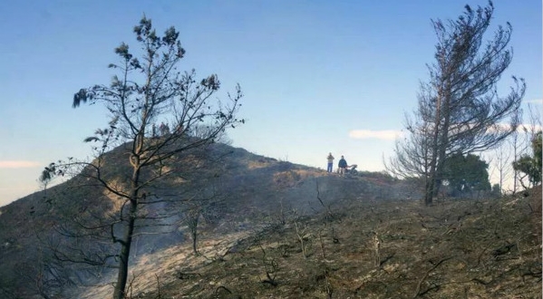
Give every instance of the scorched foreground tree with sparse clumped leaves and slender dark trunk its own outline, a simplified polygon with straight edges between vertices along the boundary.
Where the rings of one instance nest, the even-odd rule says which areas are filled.
[[[220,87],[217,75],[198,80],[194,70],[178,71],[185,50],[175,28],[170,27],[159,36],[150,19],[143,17],[133,31],[141,47],[141,58],[131,53],[128,44],[121,43],[115,49],[120,63],[109,65],[118,71],[112,82],[83,88],[73,96],[74,108],[86,102],[102,103],[112,116],[108,128],[96,130],[94,136],[85,140],[99,144],[93,148],[95,159],[52,163],[42,175],[47,181],[75,171],[83,181],[102,188],[102,195],[112,199],[111,210],[96,215],[102,217],[96,226],[89,227],[83,221],[80,224],[102,234],[109,232],[116,251],[111,256],[99,256],[100,251],[92,253],[98,248],[86,248],[80,254],[92,258],[86,260],[91,265],[117,261],[112,295],[115,299],[126,295],[133,237],[147,221],[165,217],[160,211],[150,213],[150,207],[179,199],[179,193],[171,191],[172,183],[166,179],[174,174],[183,177],[198,169],[199,161],[193,157],[193,151],[214,142],[229,127],[244,122],[235,117],[242,97],[239,86],[235,94],[228,94],[228,102],[215,101],[212,95]],[[159,122],[164,126],[157,136]],[[194,128],[199,128],[198,137],[190,135]],[[111,149],[116,151],[115,158],[105,155]],[[117,159],[124,159],[129,166],[115,168],[114,164],[120,163]]]

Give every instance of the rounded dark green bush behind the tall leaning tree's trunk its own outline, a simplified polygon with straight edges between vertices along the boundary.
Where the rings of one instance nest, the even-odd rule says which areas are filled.
[[[443,178],[449,183],[452,196],[475,190],[490,190],[489,164],[479,156],[457,153],[447,159]]]

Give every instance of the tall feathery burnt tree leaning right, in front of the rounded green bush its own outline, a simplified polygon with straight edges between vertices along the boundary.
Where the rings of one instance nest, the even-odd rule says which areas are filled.
[[[438,38],[436,61],[428,66],[429,82],[422,83],[418,110],[406,124],[411,137],[399,142],[389,163],[396,174],[424,178],[426,204],[439,193],[451,154],[492,149],[519,124],[524,81],[513,77],[505,97],[499,97],[496,88],[512,59],[511,25],[499,26],[483,44],[493,12],[491,2],[477,10],[466,5],[457,20],[432,21]],[[500,126],[508,119],[509,128]]]

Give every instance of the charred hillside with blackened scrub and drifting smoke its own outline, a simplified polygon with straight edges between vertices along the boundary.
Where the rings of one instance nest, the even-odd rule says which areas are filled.
[[[122,150],[107,155],[122,183]],[[161,183],[179,200],[150,205],[134,240],[132,298],[541,296],[540,186],[426,207],[382,173],[341,177],[219,143],[181,162],[189,171]],[[0,207],[0,296],[107,298],[113,270],[55,281],[63,256],[47,253],[65,243],[53,232],[114,213],[114,199],[79,175]]]

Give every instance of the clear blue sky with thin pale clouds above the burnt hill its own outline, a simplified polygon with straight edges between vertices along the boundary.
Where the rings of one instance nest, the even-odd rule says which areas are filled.
[[[108,123],[98,105],[72,108],[73,93],[107,84],[121,42],[146,15],[159,33],[179,31],[181,70],[218,74],[218,98],[244,93],[246,124],[232,145],[325,169],[336,162],[384,169],[404,115],[428,79],[436,37],[431,20],[456,19],[482,0],[232,0],[0,2],[0,206],[40,190],[50,162],[92,155],[82,140]],[[521,4],[520,4],[521,3]],[[541,0],[495,0],[488,38],[513,26],[511,75],[541,109]],[[503,93],[502,92],[502,93]]]

